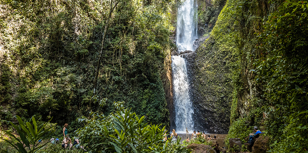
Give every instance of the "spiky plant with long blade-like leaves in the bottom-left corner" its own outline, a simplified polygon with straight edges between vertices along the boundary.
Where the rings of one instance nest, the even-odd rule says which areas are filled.
[[[26,124],[24,124],[24,122],[19,116],[16,116],[16,118],[18,120],[20,127],[14,125],[12,122],[10,122],[10,124],[17,131],[19,138],[13,135],[9,131],[4,130],[4,132],[7,135],[10,135],[11,138],[14,138],[15,141],[17,141],[16,143],[17,146],[7,139],[3,139],[3,140],[9,143],[18,152],[21,152],[21,153],[39,152],[43,147],[46,146],[47,143],[49,143],[49,141],[46,143],[43,143],[43,140],[49,138],[49,136],[55,131],[53,130],[47,134],[47,132],[50,131],[51,128],[53,128],[52,126],[46,127],[47,123],[38,126],[37,122],[34,119],[34,116],[31,118],[33,125],[30,124],[30,122],[26,122]],[[22,130],[20,130],[20,128]],[[42,142],[40,143],[39,140],[41,140]],[[27,149],[25,149],[26,147]]]

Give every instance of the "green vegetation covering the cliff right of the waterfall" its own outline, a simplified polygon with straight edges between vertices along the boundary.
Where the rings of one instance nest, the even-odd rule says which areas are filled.
[[[258,126],[270,137],[269,152],[308,152],[307,7],[292,0],[226,2],[198,56],[214,54],[230,69],[227,138],[244,143]]]

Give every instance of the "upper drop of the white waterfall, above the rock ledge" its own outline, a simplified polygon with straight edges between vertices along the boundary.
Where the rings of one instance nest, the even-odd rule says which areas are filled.
[[[197,7],[195,0],[184,0],[183,6],[178,8],[176,43],[181,51],[194,51],[192,42],[198,38]]]

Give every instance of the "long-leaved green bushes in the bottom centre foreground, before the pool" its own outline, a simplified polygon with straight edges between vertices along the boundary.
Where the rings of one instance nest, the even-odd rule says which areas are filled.
[[[163,152],[185,153],[190,152],[176,144],[163,142],[164,128],[160,125],[144,124],[145,116],[138,117],[129,109],[124,108],[124,102],[114,102],[116,112],[109,116],[92,112],[82,117],[79,122],[85,124],[79,128],[82,145],[91,152]]]

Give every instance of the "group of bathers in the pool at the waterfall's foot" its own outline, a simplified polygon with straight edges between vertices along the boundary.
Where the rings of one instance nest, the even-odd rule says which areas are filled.
[[[169,135],[167,135],[167,130],[164,130],[164,139],[163,139],[163,141],[166,141],[166,140],[169,138],[168,136],[169,136]],[[193,131],[193,134],[192,134],[192,136],[191,136],[191,140],[197,139],[198,136],[201,136],[202,138],[208,139],[208,140],[212,140],[212,139],[215,140],[215,139],[218,139],[218,138],[216,138],[216,135],[214,136],[214,138],[211,138],[210,135],[208,135],[208,137],[206,137],[206,134],[200,133],[199,130],[198,130],[198,133],[196,133],[196,130],[194,130],[194,131]],[[174,129],[172,129],[172,133],[170,134],[170,139],[173,141],[173,140],[176,140],[177,137],[178,137],[177,133],[175,132]],[[186,141],[186,142],[189,142],[189,141],[190,141],[189,137],[187,137],[187,139],[186,139],[185,141]]]

